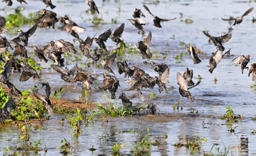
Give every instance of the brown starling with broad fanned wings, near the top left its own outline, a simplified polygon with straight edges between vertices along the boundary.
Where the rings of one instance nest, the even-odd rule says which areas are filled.
[[[42,9],[42,14],[38,19],[34,19],[34,21],[37,23],[37,26],[39,28],[45,28],[47,26],[53,26],[54,24],[59,21],[57,14],[55,12],[52,12],[50,10]]]

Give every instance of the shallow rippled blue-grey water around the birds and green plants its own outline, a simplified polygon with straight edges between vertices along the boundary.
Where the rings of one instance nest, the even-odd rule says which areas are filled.
[[[25,15],[29,12],[37,12],[39,9],[45,8],[45,5],[41,1],[31,1],[27,0],[28,5],[24,4],[25,10],[22,12]],[[116,18],[118,24],[108,24],[99,25],[98,28],[92,27],[91,21],[92,15],[86,14],[84,11],[88,9],[88,6],[84,1],[53,1],[53,4],[57,7],[53,9],[58,16],[64,16],[69,14],[71,20],[75,21],[79,26],[85,27],[87,30],[85,33],[79,34],[80,38],[85,39],[87,35],[91,37],[97,32],[98,35],[106,31],[107,29],[115,30],[121,23],[125,23],[125,29],[122,39],[124,39],[127,44],[136,44],[138,41],[142,41],[146,36],[142,37],[137,34],[137,29],[132,26],[126,19],[132,18],[132,11],[135,8],[139,8],[145,14],[146,18],[142,17],[144,20],[149,22],[149,25],[144,26],[146,32],[145,35],[152,31],[152,41],[150,49],[158,49],[161,52],[168,51],[166,59],[153,58],[152,61],[157,63],[170,64],[172,67],[170,69],[169,82],[176,89],[169,90],[169,94],[158,92],[158,88],[154,89],[144,89],[143,95],[145,101],[141,101],[140,98],[132,99],[134,104],[146,104],[146,102],[155,102],[164,115],[143,115],[143,116],[133,116],[133,117],[107,117],[108,123],[102,125],[101,121],[95,121],[95,123],[89,123],[88,126],[82,126],[82,134],[78,137],[73,134],[73,128],[69,125],[61,125],[61,118],[63,115],[53,115],[50,120],[40,123],[42,126],[40,130],[33,130],[31,133],[30,141],[41,138],[42,148],[46,144],[48,152],[46,155],[61,155],[57,146],[61,145],[61,140],[64,138],[70,141],[72,146],[77,147],[74,155],[111,155],[112,146],[114,143],[119,142],[119,144],[125,144],[122,151],[122,155],[131,155],[132,143],[135,141],[140,141],[143,139],[144,135],[147,133],[146,126],[150,127],[149,138],[154,142],[154,140],[159,140],[160,145],[152,146],[152,155],[189,155],[189,151],[186,147],[177,148],[172,146],[175,143],[185,143],[188,136],[199,134],[202,137],[207,138],[207,142],[203,142],[202,149],[206,152],[210,151],[214,143],[219,144],[214,147],[212,152],[215,153],[215,148],[223,149],[223,144],[226,147],[230,146],[232,148],[233,155],[256,155],[256,135],[251,133],[251,129],[256,128],[255,121],[252,118],[256,117],[255,114],[255,98],[256,94],[251,88],[248,88],[254,82],[252,77],[248,77],[248,71],[245,69],[244,75],[241,74],[240,66],[231,66],[230,62],[232,59],[239,55],[251,55],[251,62],[255,62],[255,56],[253,55],[253,42],[256,37],[254,34],[255,24],[252,23],[252,17],[255,16],[255,10],[244,17],[243,22],[239,26],[233,26],[232,28],[232,38],[227,43],[224,43],[225,51],[231,48],[231,54],[235,56],[224,56],[223,60],[217,65],[213,73],[208,72],[208,60],[211,56],[211,52],[215,52],[216,49],[212,43],[208,43],[208,38],[202,33],[204,30],[208,30],[211,35],[220,36],[227,33],[230,24],[227,21],[222,21],[221,18],[229,18],[229,16],[237,17],[241,16],[247,9],[254,7],[255,3],[248,3],[248,1],[221,1],[221,0],[211,0],[211,1],[161,1],[159,4],[154,4],[153,1],[120,1],[120,12],[119,5],[115,1],[95,1],[96,5],[100,11],[100,17],[104,19],[105,22],[110,23],[112,18]],[[4,4],[4,3],[1,3]],[[146,4],[150,11],[160,18],[175,18],[176,20],[169,22],[162,22],[163,28],[154,27],[152,16],[146,12],[143,8],[143,4]],[[1,5],[3,6],[3,5]],[[12,7],[21,6],[16,1],[13,1]],[[41,7],[43,6],[43,7]],[[48,8],[49,9],[49,8]],[[161,10],[161,12],[160,12]],[[0,14],[6,16],[12,13],[13,10],[0,11]],[[186,18],[192,19],[194,22],[192,24],[186,24],[181,22],[179,19],[179,13],[183,13],[183,20]],[[81,18],[83,17],[83,19]],[[233,23],[232,23],[233,24]],[[58,25],[58,24],[57,24]],[[30,26],[22,27],[22,30],[29,29]],[[46,31],[47,30],[47,31]],[[17,34],[2,34],[6,36],[7,39],[12,39],[17,37]],[[175,35],[175,39],[173,38]],[[58,31],[53,29],[40,29],[36,30],[36,33],[29,38],[29,45],[32,46],[34,43],[38,47],[46,45],[49,41],[64,39],[65,41],[71,42],[73,37],[65,31]],[[179,52],[185,52],[184,46],[180,46],[179,42],[185,42],[187,44],[193,43],[200,49],[202,49],[206,55],[199,55],[202,60],[200,64],[194,65],[193,60],[190,56],[185,55],[182,59],[175,59],[174,57],[179,54]],[[167,44],[168,43],[168,44]],[[79,43],[76,42],[75,47],[78,48]],[[108,49],[115,49],[117,46],[111,40],[106,42]],[[92,44],[92,48],[98,46],[95,42]],[[28,50],[32,50],[29,49]],[[13,51],[11,51],[13,52]],[[33,56],[33,54],[28,54]],[[153,55],[156,55],[153,52]],[[159,54],[162,56],[161,54]],[[86,58],[83,56],[83,62]],[[146,73],[150,76],[158,76],[156,72],[150,69],[148,66],[143,64],[141,55],[130,55],[127,54],[125,59],[130,64],[129,66],[142,67]],[[181,63],[176,63],[179,61]],[[67,62],[68,68],[72,68],[75,63],[80,65],[79,62]],[[99,63],[99,62],[98,62]],[[41,62],[42,67],[50,67],[50,63],[47,64]],[[182,98],[178,92],[178,85],[176,80],[176,73],[183,73],[188,67],[193,69],[194,76],[201,75],[202,82],[190,90],[193,97],[196,99],[194,102],[189,102],[186,98]],[[248,64],[250,67],[250,63]],[[102,68],[96,68],[94,66],[89,68],[84,68],[91,72],[96,72],[100,74],[105,72]],[[113,66],[113,71],[116,73],[116,77],[120,80],[121,88],[116,92],[118,97],[121,92],[129,88],[129,85],[125,83],[123,75],[119,75],[117,72],[116,65]],[[20,83],[18,81],[20,73],[12,74],[9,78],[10,81],[17,85],[18,89],[24,90],[32,88],[34,84],[48,82],[51,86],[51,90],[58,90],[59,88],[66,88],[66,90],[61,93],[62,98],[78,99],[81,85],[80,84],[67,84],[65,81],[60,80],[60,74],[51,69],[43,69],[43,75],[41,75],[40,80],[29,79],[26,82]],[[217,78],[217,83],[214,83],[214,77]],[[98,77],[98,83],[102,83],[103,79],[101,76]],[[193,79],[194,82],[197,79]],[[171,85],[167,84],[167,87]],[[93,86],[96,86],[94,83]],[[70,92],[69,92],[70,91]],[[153,91],[157,98],[152,100],[152,97],[147,98],[150,95],[150,91]],[[133,91],[125,91],[125,93],[130,96]],[[103,102],[100,98],[100,94],[103,94],[100,90],[93,90],[88,93],[90,101]],[[98,98],[95,98],[98,97]],[[173,105],[177,104],[177,100],[181,99],[182,102],[180,106],[183,110],[173,109]],[[120,102],[118,102],[120,103]],[[244,105],[246,104],[246,105]],[[234,133],[230,133],[230,128],[227,127],[226,121],[219,119],[218,117],[226,113],[225,107],[231,106],[235,114],[240,114],[243,116],[238,123],[234,123],[232,127],[238,126]],[[190,113],[190,110],[198,110],[198,114]],[[207,115],[214,115],[216,118],[207,118]],[[202,121],[206,125],[202,125]],[[65,123],[65,122],[64,122]],[[207,124],[208,123],[208,124]],[[138,133],[126,132],[119,133],[118,127],[123,130],[137,130],[139,128],[143,131]],[[207,127],[207,128],[205,128]],[[5,148],[7,145],[19,145],[22,144],[18,139],[20,134],[20,129],[15,126],[0,127],[0,149]],[[105,136],[109,134],[107,140],[104,140]],[[168,134],[168,138],[165,139],[165,134]],[[103,135],[103,136],[102,136]],[[248,148],[245,148],[245,140],[243,138],[249,138]],[[7,139],[12,138],[12,142],[7,142]],[[74,144],[78,143],[78,144]],[[89,151],[91,144],[94,145],[96,151],[93,153]],[[239,153],[240,151],[240,153]],[[2,152],[2,151],[1,151]],[[1,153],[0,152],[0,153]],[[231,149],[230,151],[231,152]],[[40,152],[39,152],[40,153]],[[31,155],[33,153],[30,153]],[[43,155],[44,152],[41,152]],[[228,155],[231,155],[229,153]]]

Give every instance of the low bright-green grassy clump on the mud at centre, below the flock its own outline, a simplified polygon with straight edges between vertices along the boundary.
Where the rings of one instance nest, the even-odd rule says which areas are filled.
[[[111,117],[124,117],[131,116],[140,113],[140,109],[144,106],[117,106],[115,103],[110,102],[109,106],[103,106],[100,102],[95,103],[98,106],[98,112],[104,115],[110,115]]]

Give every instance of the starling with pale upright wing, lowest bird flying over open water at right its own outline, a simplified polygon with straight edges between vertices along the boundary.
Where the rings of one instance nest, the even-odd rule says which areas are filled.
[[[190,100],[190,102],[195,100],[194,97],[190,94],[189,89],[196,87],[197,85],[199,85],[201,81],[198,81],[198,83],[193,87],[187,88],[187,83],[184,77],[179,72],[177,72],[177,80],[178,80],[177,84],[179,85],[179,94],[181,94],[182,97],[187,97],[187,100]]]

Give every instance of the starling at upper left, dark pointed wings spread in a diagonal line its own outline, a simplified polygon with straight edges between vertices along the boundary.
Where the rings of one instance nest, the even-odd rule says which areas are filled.
[[[35,24],[32,28],[30,28],[25,33],[23,33],[22,30],[18,30],[19,36],[12,39],[11,41],[13,41],[13,42],[21,42],[22,41],[24,43],[24,46],[26,47],[26,46],[28,46],[28,38],[34,34],[36,29],[37,29],[37,24]]]

